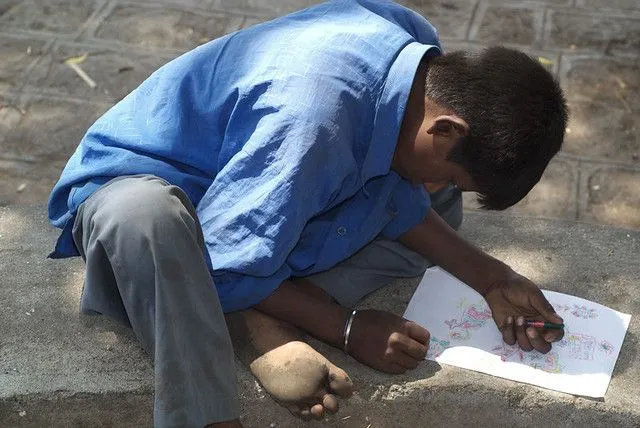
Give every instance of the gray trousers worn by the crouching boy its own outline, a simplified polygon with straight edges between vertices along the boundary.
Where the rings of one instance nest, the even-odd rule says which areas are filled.
[[[457,227],[459,192],[449,188],[432,199]],[[153,357],[154,425],[204,427],[236,419],[233,349],[186,194],[153,176],[116,178],[80,206],[73,237],[86,263],[81,311],[131,326]],[[403,245],[377,239],[308,279],[352,306],[393,278],[420,275],[427,266]]]

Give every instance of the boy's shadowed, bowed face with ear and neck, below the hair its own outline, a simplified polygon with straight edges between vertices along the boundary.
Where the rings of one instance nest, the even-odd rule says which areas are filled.
[[[469,173],[447,160],[453,146],[467,134],[466,122],[433,101],[425,101],[424,96],[414,97],[414,92],[409,96],[392,169],[413,183],[428,184],[427,188],[454,184],[463,191],[476,190]]]

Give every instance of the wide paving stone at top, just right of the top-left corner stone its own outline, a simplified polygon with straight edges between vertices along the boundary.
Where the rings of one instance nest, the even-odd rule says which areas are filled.
[[[145,47],[189,50],[240,29],[244,20],[242,16],[188,12],[174,6],[118,6],[96,36]]]

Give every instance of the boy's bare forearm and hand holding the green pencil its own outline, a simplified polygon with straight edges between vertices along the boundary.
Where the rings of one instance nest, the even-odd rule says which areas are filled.
[[[433,209],[399,241],[482,294],[505,342],[548,352],[550,343],[562,338],[563,330],[526,329],[523,319],[562,323],[562,318],[534,283],[462,239]]]

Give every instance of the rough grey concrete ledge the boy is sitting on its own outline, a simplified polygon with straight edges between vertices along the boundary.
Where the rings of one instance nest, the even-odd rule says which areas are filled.
[[[385,375],[327,346],[356,385],[341,411],[306,426],[640,426],[640,232],[469,213],[462,233],[543,288],[634,315],[604,400],[574,397],[425,361]],[[78,316],[80,260],[45,259],[56,232],[38,207],[0,209],[0,426],[150,426],[152,370],[131,333]],[[417,280],[363,306],[402,313]],[[247,427],[301,426],[238,369]],[[370,425],[369,425],[370,424]]]

